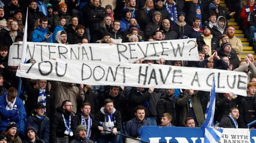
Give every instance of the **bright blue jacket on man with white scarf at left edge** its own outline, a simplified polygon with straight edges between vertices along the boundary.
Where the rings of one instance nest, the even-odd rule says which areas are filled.
[[[14,122],[18,126],[18,131],[22,135],[24,135],[24,127],[26,123],[26,111],[24,108],[24,104],[20,98],[16,98],[16,102],[14,106],[16,107],[17,110],[6,110],[6,94],[7,92],[4,93],[3,96],[0,96],[0,114],[1,114],[1,122],[0,122],[0,130],[5,130],[7,127],[7,124],[10,122],[9,119],[14,120]],[[19,112],[18,112],[19,111]]]

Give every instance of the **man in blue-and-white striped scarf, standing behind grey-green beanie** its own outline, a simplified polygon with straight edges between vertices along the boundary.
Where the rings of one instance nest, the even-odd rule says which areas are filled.
[[[86,138],[90,139],[91,134],[92,134],[92,121],[94,119],[94,116],[91,114],[91,105],[88,102],[85,102],[82,104],[82,108],[80,108],[80,111],[82,112],[81,114],[77,114],[71,124],[71,129],[72,131],[79,132],[77,127],[79,125],[83,125],[85,127],[85,132],[86,132]],[[80,112],[79,112],[80,113]],[[77,134],[75,134],[75,137],[77,137]]]

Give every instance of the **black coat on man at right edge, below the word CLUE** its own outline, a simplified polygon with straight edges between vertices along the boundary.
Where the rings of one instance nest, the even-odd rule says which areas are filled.
[[[238,126],[239,128],[247,128],[247,124],[256,120],[256,107],[255,107],[255,96],[248,97],[245,96],[241,103],[238,104],[239,108],[239,118]],[[254,125],[255,127],[255,125]]]

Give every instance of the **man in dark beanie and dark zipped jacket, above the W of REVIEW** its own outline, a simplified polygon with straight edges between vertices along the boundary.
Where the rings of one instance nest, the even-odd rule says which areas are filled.
[[[188,25],[184,20],[186,15],[184,12],[178,12],[178,21],[172,25],[172,29],[178,33],[178,35],[187,35],[190,25]]]

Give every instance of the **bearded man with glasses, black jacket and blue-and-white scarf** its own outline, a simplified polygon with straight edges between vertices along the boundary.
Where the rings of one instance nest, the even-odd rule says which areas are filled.
[[[71,119],[73,118],[72,107],[72,102],[65,100],[56,109],[57,112],[54,114],[51,129],[53,143],[68,143],[68,138],[73,136],[73,131],[70,127]]]

